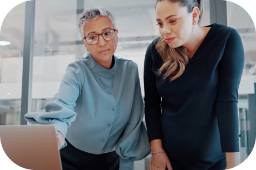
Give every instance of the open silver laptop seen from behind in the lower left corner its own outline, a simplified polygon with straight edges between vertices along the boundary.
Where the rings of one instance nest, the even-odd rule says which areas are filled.
[[[61,170],[55,127],[51,125],[2,125],[4,152],[18,166],[33,170]]]

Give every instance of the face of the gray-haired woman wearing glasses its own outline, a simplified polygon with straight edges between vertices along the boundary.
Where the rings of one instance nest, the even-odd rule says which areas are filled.
[[[89,20],[85,27],[83,27],[84,37],[88,35],[101,34],[107,30],[114,29],[111,20],[108,17],[99,17],[97,19]],[[106,34],[107,35],[107,34]],[[105,40],[102,35],[99,35],[99,41],[96,44],[89,45],[86,40],[83,39],[85,48],[90,52],[92,57],[101,65],[112,61],[112,56],[115,53],[117,47],[117,30],[115,32],[115,38],[112,40]]]

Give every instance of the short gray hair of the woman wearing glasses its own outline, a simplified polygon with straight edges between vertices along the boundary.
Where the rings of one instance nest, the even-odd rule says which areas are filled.
[[[111,12],[107,11],[105,8],[102,8],[102,7],[91,8],[91,9],[83,11],[80,14],[80,17],[78,18],[78,27],[79,27],[80,34],[81,34],[82,38],[84,37],[83,27],[85,27],[85,24],[89,20],[97,19],[99,17],[108,17],[111,20],[113,27],[114,28],[116,27],[114,18],[112,16]]]

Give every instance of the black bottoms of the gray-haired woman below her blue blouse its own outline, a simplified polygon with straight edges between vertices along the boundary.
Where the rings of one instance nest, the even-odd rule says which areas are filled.
[[[91,154],[78,150],[67,141],[60,155],[63,170],[119,170],[120,161],[116,152]]]

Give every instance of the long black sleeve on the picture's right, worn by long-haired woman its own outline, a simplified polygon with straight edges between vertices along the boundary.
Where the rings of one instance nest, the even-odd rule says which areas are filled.
[[[242,40],[233,30],[227,40],[219,68],[219,91],[215,111],[222,152],[239,151],[238,88],[244,68]]]

